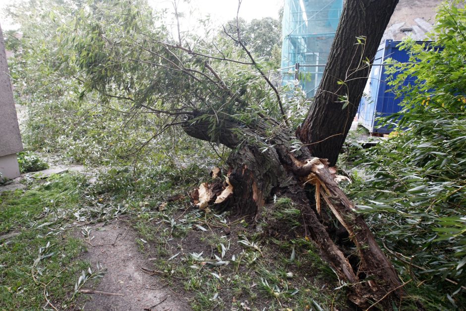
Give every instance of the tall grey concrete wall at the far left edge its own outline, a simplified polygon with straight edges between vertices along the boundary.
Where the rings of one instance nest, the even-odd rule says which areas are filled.
[[[22,150],[23,144],[6,63],[5,43],[0,27],[0,173],[3,178],[19,176],[16,153]]]

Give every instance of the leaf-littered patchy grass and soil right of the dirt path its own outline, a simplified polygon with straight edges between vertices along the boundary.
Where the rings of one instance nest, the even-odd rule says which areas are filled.
[[[136,215],[140,250],[152,263],[142,269],[191,297],[194,310],[310,310],[345,304],[336,274],[308,237],[290,232],[287,239],[265,238],[266,222],[249,224],[228,212],[200,210],[201,198],[195,205],[187,196],[166,198],[141,202],[130,211]],[[278,199],[275,205],[264,219],[299,224],[300,211],[291,200]]]

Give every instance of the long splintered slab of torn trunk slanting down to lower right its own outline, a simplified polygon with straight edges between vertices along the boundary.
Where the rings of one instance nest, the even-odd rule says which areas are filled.
[[[315,185],[316,209],[320,214],[322,210],[322,197],[333,215],[345,227],[350,240],[356,246],[359,257],[358,270],[354,271],[349,265],[348,259],[341,258],[341,268],[345,276],[354,284],[356,295],[350,299],[359,306],[365,306],[368,300],[385,298],[387,293],[401,296],[395,292],[400,288],[400,280],[393,265],[385,257],[377,245],[372,232],[363,218],[354,211],[356,207],[340,189],[338,183],[349,180],[348,177],[336,175],[336,169],[329,167],[326,159],[311,158],[299,161],[292,158],[295,166],[293,171],[304,183]],[[324,191],[322,191],[324,189]],[[359,271],[364,271],[364,277],[360,278]],[[365,283],[365,284],[364,284]],[[368,288],[365,288],[368,286]],[[385,296],[384,296],[385,295]]]

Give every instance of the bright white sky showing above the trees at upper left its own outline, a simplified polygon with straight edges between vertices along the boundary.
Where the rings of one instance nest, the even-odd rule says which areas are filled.
[[[1,11],[4,7],[13,2],[21,0],[0,0],[0,24],[2,29],[14,28],[7,20],[4,20]],[[238,6],[237,0],[190,0],[189,4],[185,0],[179,1],[178,11],[183,13],[185,18],[182,21],[182,28],[196,32],[193,27],[195,20],[210,16],[214,25],[220,25],[227,20],[236,17]],[[168,8],[169,12],[173,12],[173,4],[170,0],[148,0],[148,2],[156,9]],[[254,18],[274,17],[278,18],[278,11],[283,5],[284,0],[242,0],[239,16],[251,20]]]

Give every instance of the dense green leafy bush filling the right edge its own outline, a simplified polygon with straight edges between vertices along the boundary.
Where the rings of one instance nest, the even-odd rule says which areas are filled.
[[[443,51],[407,39],[410,63],[392,61],[389,84],[403,109],[385,121],[398,120],[398,135],[353,155],[370,178],[351,196],[404,281],[422,283],[428,304],[451,308],[464,303],[466,284],[465,9],[442,4],[433,36]],[[409,76],[415,83],[403,86]]]

